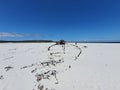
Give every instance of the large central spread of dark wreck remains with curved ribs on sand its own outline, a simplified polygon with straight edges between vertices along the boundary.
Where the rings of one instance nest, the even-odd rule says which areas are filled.
[[[60,48],[62,48],[61,49],[62,52],[61,51],[54,51],[54,50],[52,51],[51,48],[54,48],[54,46],[56,46],[56,45],[60,46]],[[65,48],[68,45],[71,47],[75,47],[79,51],[79,53],[74,56],[75,59],[73,59],[73,60],[77,60],[78,57],[82,53],[82,49],[80,47],[78,47],[77,44],[69,44],[69,43],[66,43],[64,40],[60,40],[60,41],[56,42],[55,44],[48,47],[48,51],[49,51],[48,52],[49,53],[48,59],[49,60],[44,61],[44,62],[34,63],[34,64],[24,66],[21,68],[21,69],[27,69],[30,67],[34,67],[34,69],[31,70],[31,73],[35,73],[35,78],[36,78],[35,79],[36,83],[35,83],[35,87],[33,90],[43,90],[43,89],[44,90],[55,90],[54,88],[46,87],[43,82],[44,81],[51,82],[53,80],[51,83],[59,84],[57,74],[60,73],[60,71],[58,71],[56,69],[56,66],[58,66],[58,64],[61,65],[61,63],[65,62],[63,55],[67,55],[67,51],[65,51]],[[65,66],[63,68],[66,71],[66,70],[71,68],[71,65]],[[62,72],[64,70],[62,70]]]

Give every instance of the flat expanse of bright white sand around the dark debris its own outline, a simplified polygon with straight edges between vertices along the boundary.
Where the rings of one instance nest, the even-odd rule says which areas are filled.
[[[120,90],[120,44],[53,44],[0,43],[0,90]]]

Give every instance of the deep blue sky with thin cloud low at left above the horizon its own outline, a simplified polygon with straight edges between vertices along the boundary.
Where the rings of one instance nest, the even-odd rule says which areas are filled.
[[[0,0],[0,33],[2,39],[120,40],[120,0]]]

